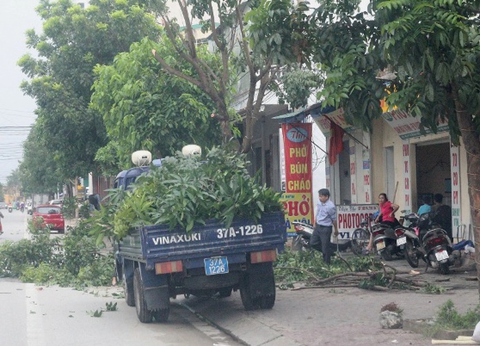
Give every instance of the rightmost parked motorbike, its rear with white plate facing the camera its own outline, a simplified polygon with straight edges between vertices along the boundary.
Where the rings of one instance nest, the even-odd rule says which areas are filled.
[[[422,257],[428,266],[439,269],[442,274],[450,272],[450,266],[455,263],[452,241],[445,230],[438,227],[432,219],[431,213],[424,213],[419,217],[411,217],[413,226],[417,227],[421,246],[417,247],[417,256]]]

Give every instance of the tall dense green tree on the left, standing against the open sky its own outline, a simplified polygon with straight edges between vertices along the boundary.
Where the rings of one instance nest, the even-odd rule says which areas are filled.
[[[107,142],[102,118],[88,107],[94,66],[111,63],[145,36],[156,38],[159,26],[149,11],[161,2],[91,0],[83,8],[70,0],[40,1],[43,32],[27,32],[36,56],[19,61],[30,78],[21,89],[36,100],[38,136],[61,179],[96,171],[94,155]]]

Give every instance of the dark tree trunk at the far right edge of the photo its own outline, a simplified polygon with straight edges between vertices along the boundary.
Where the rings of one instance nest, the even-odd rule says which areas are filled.
[[[463,146],[467,153],[468,196],[470,197],[470,215],[475,242],[475,263],[479,278],[480,299],[480,139],[474,127],[472,115],[461,104],[457,94],[454,94],[455,110],[461,131]]]

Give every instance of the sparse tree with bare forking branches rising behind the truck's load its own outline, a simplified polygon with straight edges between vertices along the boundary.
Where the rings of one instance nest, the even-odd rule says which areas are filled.
[[[176,4],[181,17],[163,13],[162,21],[175,52],[193,67],[195,75],[184,74],[157,50],[153,55],[163,69],[202,89],[215,102],[214,114],[223,139],[228,142],[235,133],[241,142],[240,151],[246,153],[252,145],[263,98],[274,85],[277,72],[292,63],[305,63],[301,54],[305,26],[297,25],[305,21],[296,18],[305,17],[306,6],[292,6],[290,0],[177,0]],[[200,23],[202,32],[210,32],[219,66],[212,68],[199,54],[195,23]],[[243,90],[233,86],[243,75],[248,85],[245,107],[237,113],[231,102],[235,91]],[[242,120],[243,128],[232,131]]]

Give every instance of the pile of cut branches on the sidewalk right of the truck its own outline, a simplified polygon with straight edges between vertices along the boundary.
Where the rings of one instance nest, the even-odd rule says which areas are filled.
[[[279,255],[275,265],[279,288],[305,290],[313,288],[363,288],[367,290],[435,290],[426,281],[401,276],[400,272],[372,256],[336,255],[327,266],[320,252],[292,252]]]

